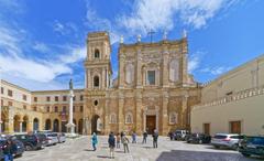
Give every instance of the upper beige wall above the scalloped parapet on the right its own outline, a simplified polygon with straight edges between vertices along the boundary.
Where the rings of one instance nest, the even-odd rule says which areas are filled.
[[[224,97],[228,93],[238,93],[263,84],[264,55],[245,63],[207,84],[201,90],[201,101],[211,101]]]

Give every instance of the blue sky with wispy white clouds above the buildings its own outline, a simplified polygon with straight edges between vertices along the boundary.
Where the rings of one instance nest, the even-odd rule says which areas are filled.
[[[189,73],[200,83],[264,53],[262,0],[0,0],[0,77],[28,89],[84,87],[86,36],[107,30],[118,74],[120,36],[188,33]]]

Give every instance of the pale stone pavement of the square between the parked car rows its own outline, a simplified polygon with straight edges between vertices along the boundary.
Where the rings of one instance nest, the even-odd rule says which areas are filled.
[[[252,161],[232,150],[217,150],[208,144],[188,144],[184,141],[169,141],[165,137],[158,138],[158,148],[152,148],[152,138],[142,144],[130,143],[130,153],[116,149],[116,158],[109,158],[107,137],[99,137],[97,151],[91,150],[90,137],[67,140],[65,143],[46,147],[38,151],[26,151],[16,161]]]

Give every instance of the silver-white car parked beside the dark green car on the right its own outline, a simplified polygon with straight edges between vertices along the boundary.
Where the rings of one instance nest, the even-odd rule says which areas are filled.
[[[211,139],[211,144],[219,149],[219,148],[230,148],[238,150],[240,142],[244,139],[244,136],[240,136],[238,133],[217,133]]]

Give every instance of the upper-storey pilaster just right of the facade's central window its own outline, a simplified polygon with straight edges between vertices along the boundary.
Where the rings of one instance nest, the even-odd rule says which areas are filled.
[[[169,65],[169,53],[167,51],[167,47],[164,49],[163,53],[163,87],[168,87],[168,65]]]

